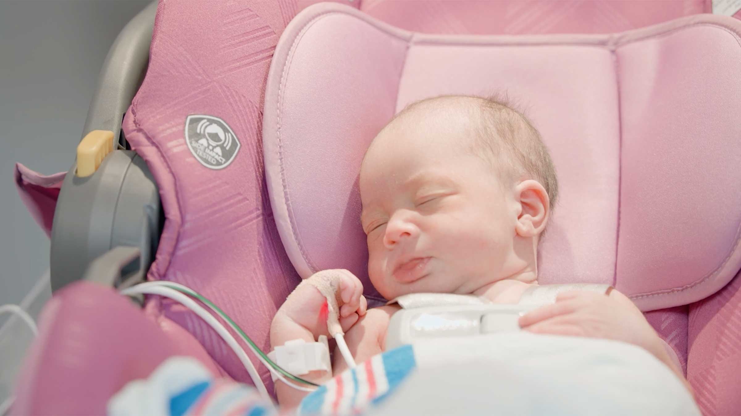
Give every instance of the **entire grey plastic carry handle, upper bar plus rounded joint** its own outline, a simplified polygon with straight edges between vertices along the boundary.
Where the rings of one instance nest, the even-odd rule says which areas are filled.
[[[122,118],[147,70],[156,10],[153,1],[139,12],[105,58],[82,137],[93,130],[113,132],[113,151],[93,175],[76,175],[75,162],[64,178],[51,232],[53,291],[82,278],[113,286],[140,281],[153,261],[164,223],[159,189],[136,152],[117,149],[127,149]],[[117,246],[137,248],[139,261],[125,265],[122,276],[86,275],[96,258]]]

